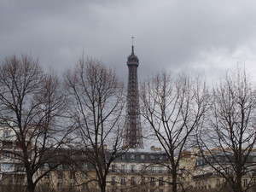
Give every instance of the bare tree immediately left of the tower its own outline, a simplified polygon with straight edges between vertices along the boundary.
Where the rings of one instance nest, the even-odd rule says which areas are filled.
[[[96,172],[93,180],[106,191],[109,166],[123,150],[124,86],[112,69],[84,56],[67,72],[66,84],[81,146]]]

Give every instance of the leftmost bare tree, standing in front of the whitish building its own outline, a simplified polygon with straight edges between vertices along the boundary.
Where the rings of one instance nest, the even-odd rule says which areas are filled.
[[[45,154],[58,148],[67,134],[61,127],[67,102],[60,85],[30,55],[11,56],[0,67],[1,153],[12,163],[11,172],[25,173],[29,192],[55,168],[38,172],[47,162]],[[54,155],[49,152],[47,157]]]

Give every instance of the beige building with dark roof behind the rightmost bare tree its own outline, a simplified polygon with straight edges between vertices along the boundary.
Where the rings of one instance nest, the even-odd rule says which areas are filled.
[[[201,154],[195,156],[195,169],[191,179],[195,189],[211,191],[212,189],[229,190],[229,180],[236,179],[234,154],[229,148],[212,148],[202,158]],[[246,167],[246,168],[245,168]],[[253,152],[247,157],[241,186],[247,191],[255,191],[256,184],[256,153]]]

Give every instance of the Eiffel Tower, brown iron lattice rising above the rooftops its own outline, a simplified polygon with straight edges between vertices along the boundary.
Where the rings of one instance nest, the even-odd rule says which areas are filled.
[[[128,56],[129,69],[127,87],[127,106],[125,116],[125,145],[129,148],[143,148],[143,133],[139,110],[139,95],[137,84],[137,67],[139,60],[131,47],[131,55]]]

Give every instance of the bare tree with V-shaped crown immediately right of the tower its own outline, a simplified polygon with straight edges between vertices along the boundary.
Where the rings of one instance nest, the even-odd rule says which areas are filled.
[[[172,191],[177,192],[182,189],[178,172],[183,150],[191,148],[190,138],[207,110],[207,87],[199,79],[172,79],[162,72],[143,83],[141,99],[143,117],[170,161]]]

